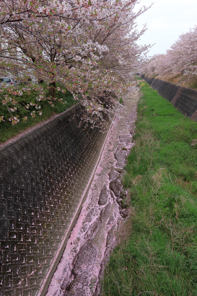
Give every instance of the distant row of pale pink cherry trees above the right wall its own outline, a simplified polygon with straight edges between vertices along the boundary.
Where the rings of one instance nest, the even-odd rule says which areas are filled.
[[[189,83],[197,76],[197,26],[179,36],[166,54],[156,54],[143,67],[147,74]]]

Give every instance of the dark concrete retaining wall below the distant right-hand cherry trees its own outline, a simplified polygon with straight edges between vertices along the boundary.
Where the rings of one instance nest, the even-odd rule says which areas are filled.
[[[197,91],[150,75],[141,75],[160,96],[172,103],[181,113],[197,121]]]

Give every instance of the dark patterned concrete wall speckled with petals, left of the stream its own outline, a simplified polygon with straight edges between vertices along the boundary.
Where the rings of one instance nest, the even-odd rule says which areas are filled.
[[[106,133],[80,104],[0,151],[0,294],[40,295],[64,247]]]

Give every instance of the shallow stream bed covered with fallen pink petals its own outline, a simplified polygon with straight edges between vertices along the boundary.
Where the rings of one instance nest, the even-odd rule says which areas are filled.
[[[128,216],[121,207],[121,179],[133,146],[138,93],[129,94],[115,118],[87,188],[87,198],[71,231],[45,296],[102,295],[106,260],[117,244],[115,232]]]

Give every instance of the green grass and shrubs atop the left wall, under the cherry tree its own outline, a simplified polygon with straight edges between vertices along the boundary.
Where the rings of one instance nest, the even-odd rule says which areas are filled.
[[[44,85],[44,91],[46,93],[46,96],[48,96],[48,89],[47,85]],[[21,87],[22,88],[22,87]],[[25,94],[23,92],[22,96],[15,96],[15,98],[21,102],[21,104],[26,105],[32,103],[36,103],[36,96],[38,96],[38,91],[32,91],[31,94]],[[12,97],[12,96],[11,96]],[[14,97],[14,96],[13,96]],[[7,112],[7,107],[2,104],[2,101],[0,100],[0,116],[4,116],[5,121],[0,123],[0,143],[5,142],[7,139],[12,138],[13,136],[17,135],[18,133],[24,131],[25,129],[35,126],[37,123],[47,120],[51,116],[64,112],[66,109],[70,108],[72,105],[76,104],[77,102],[74,101],[73,96],[70,93],[62,93],[61,91],[56,91],[56,98],[61,99],[63,98],[63,102],[56,101],[54,104],[54,107],[51,107],[51,105],[48,104],[46,101],[40,101],[38,104],[41,106],[40,110],[42,111],[42,115],[36,115],[36,117],[32,118],[30,115],[30,112],[37,111],[34,107],[29,108],[29,110],[26,110],[25,108],[21,108],[22,113],[20,112],[19,108],[16,112],[13,113],[14,115],[19,115],[19,122],[12,126],[8,118],[10,117],[10,114]],[[9,107],[13,107],[11,103],[9,103]],[[31,106],[30,106],[31,107]],[[28,112],[30,111],[30,112]],[[24,116],[27,116],[27,122],[23,122],[22,118]]]

